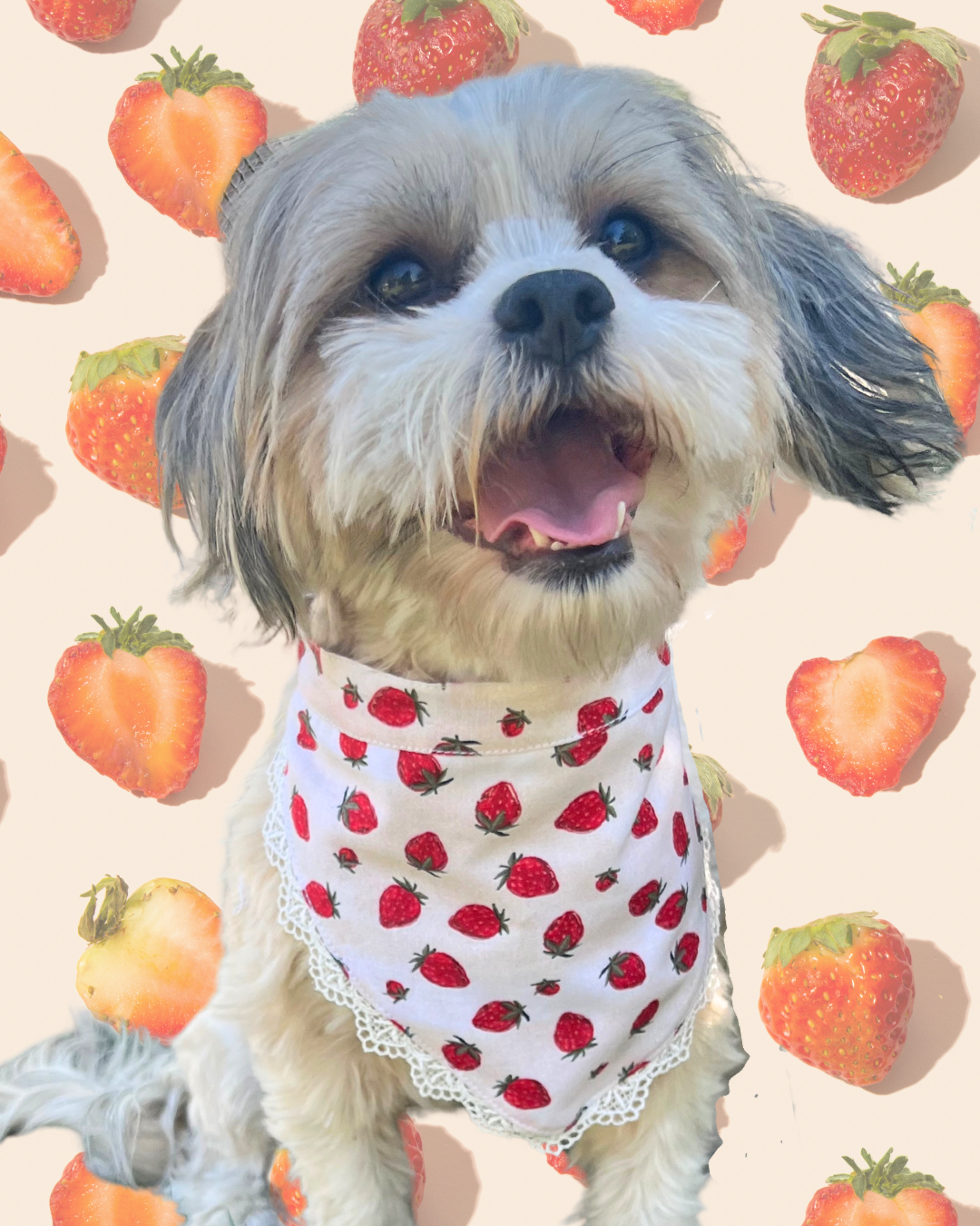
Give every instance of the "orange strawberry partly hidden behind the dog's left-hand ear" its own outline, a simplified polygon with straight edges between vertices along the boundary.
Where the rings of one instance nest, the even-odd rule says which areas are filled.
[[[71,376],[69,446],[100,481],[151,506],[160,505],[157,401],[183,353],[179,336],[147,337],[105,353],[82,351]],[[183,505],[176,492],[173,506]]]

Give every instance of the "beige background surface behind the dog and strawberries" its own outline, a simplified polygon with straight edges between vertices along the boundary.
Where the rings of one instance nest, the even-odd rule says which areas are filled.
[[[603,0],[529,0],[535,60],[631,64],[675,77],[717,113],[785,197],[858,234],[904,270],[922,260],[980,298],[980,12],[975,0],[905,6],[958,33],[974,56],[943,150],[880,202],[838,194],[813,163],[802,116],[817,36],[784,0],[704,0],[697,28],[653,38]],[[271,131],[353,103],[350,63],[366,0],[137,0],[130,29],[102,49],[71,47],[23,0],[2,17],[0,130],[61,197],[85,260],[53,302],[0,300],[0,1059],[66,1027],[78,1005],[78,894],[104,873],[132,885],[183,878],[219,899],[224,812],[256,756],[292,652],[235,622],[170,598],[178,563],[156,512],[89,476],[65,441],[67,380],[80,349],[189,333],[222,291],[218,244],[179,229],[123,181],[105,142],[114,105],[149,53],[198,43],[245,72]],[[336,13],[336,15],[334,15]],[[839,1155],[894,1145],[947,1184],[963,1226],[980,1226],[976,1100],[980,975],[974,769],[980,704],[968,701],[980,647],[974,452],[927,505],[892,520],[779,483],[736,569],[701,591],[676,628],[675,658],[696,749],[737,780],[718,836],[729,950],[751,1060],[720,1118],[706,1226],[794,1226]],[[91,612],[137,603],[181,630],[207,662],[201,765],[173,802],[136,799],[75,758],[47,711],[55,662]],[[811,656],[839,658],[880,635],[938,652],[949,683],[936,728],[902,786],[858,799],[817,777],[784,714],[785,685]],[[919,988],[908,1046],[875,1090],[839,1084],[782,1054],[756,1010],[773,924],[876,908],[907,935]],[[578,1186],[530,1148],[464,1118],[424,1129],[430,1192],[423,1226],[552,1226]],[[76,1137],[49,1130],[0,1148],[4,1222],[44,1226]],[[624,1224],[628,1226],[628,1224]]]

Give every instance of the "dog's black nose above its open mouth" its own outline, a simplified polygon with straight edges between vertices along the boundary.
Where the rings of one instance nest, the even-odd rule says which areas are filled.
[[[601,336],[616,303],[598,277],[575,268],[532,272],[506,289],[494,319],[524,353],[567,367]]]

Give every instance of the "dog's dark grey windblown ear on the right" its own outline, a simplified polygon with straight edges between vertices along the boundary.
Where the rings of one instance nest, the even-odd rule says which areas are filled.
[[[891,514],[959,459],[925,351],[843,234],[757,201],[789,391],[784,462],[831,494]]]

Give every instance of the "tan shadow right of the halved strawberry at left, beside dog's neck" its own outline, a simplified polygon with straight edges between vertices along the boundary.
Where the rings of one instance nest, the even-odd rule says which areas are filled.
[[[221,787],[262,723],[265,707],[252,694],[252,683],[228,664],[209,660],[202,663],[207,673],[207,706],[201,756],[184,791],[168,796],[160,804],[200,801],[212,788]]]

